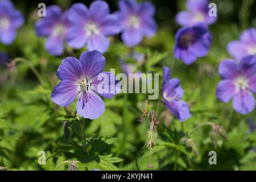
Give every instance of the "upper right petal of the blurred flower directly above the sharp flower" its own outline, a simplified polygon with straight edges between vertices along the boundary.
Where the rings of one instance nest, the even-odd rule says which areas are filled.
[[[89,7],[90,18],[100,20],[110,13],[109,5],[105,1],[93,1]]]

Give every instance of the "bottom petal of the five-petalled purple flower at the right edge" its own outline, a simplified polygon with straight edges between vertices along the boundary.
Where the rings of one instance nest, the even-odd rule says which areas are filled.
[[[240,114],[248,114],[255,108],[255,98],[247,90],[241,90],[233,98],[233,107]]]

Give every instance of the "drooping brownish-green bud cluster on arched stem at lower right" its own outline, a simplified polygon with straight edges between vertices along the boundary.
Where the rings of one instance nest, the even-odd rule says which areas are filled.
[[[223,137],[224,139],[228,140],[228,134],[223,129],[223,127],[213,123],[212,131],[210,131],[210,139],[212,140],[212,143],[215,148],[217,147],[219,137]]]

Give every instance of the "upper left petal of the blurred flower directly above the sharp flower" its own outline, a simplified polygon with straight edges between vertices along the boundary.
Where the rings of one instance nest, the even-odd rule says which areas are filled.
[[[68,10],[68,19],[73,24],[85,24],[89,19],[88,9],[83,3],[75,3]]]

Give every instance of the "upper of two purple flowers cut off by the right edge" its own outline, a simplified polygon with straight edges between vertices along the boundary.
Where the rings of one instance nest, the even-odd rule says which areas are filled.
[[[243,31],[240,40],[230,42],[227,49],[237,61],[241,61],[245,56],[256,55],[256,29],[249,28]]]

